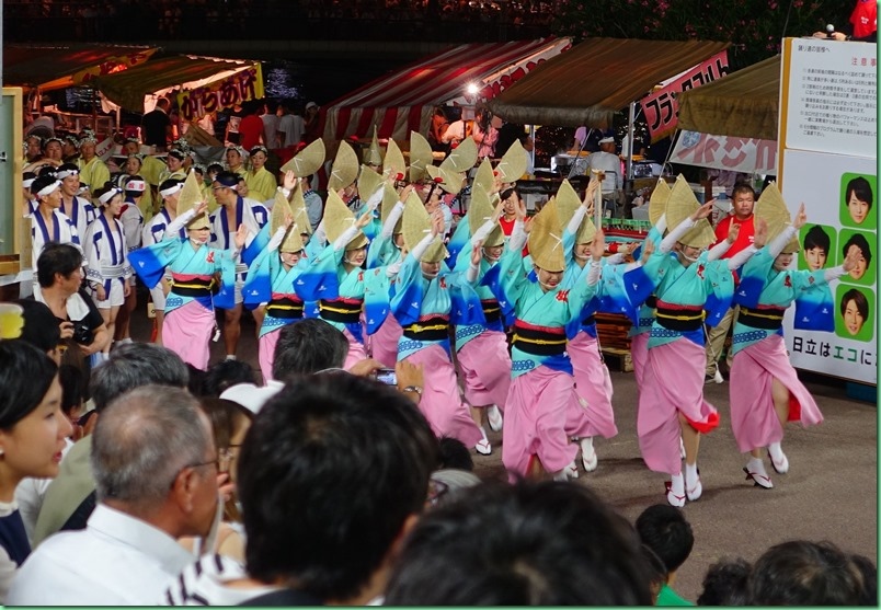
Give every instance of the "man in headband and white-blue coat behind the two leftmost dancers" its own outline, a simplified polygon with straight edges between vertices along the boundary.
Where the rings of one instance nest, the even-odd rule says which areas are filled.
[[[239,194],[239,174],[234,172],[220,172],[214,179],[214,196],[219,208],[211,215],[211,246],[219,250],[233,248],[233,235],[241,228],[245,228],[245,245],[241,251],[241,258],[236,261],[236,295],[234,302],[224,309],[224,344],[227,348],[227,359],[236,359],[236,350],[241,335],[242,314],[242,286],[244,286],[248,266],[253,263],[258,254],[268,243],[266,233],[261,229],[270,219],[268,210],[263,204],[245,204]],[[263,322],[261,311],[254,310],[254,321],[260,327]]]

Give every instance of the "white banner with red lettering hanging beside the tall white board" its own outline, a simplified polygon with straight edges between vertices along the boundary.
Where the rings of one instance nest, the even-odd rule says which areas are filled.
[[[686,129],[673,147],[671,163],[777,175],[777,141],[713,136]]]

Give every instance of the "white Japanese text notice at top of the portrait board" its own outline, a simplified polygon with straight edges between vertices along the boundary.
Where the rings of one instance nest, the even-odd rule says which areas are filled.
[[[782,146],[876,157],[878,47],[822,38],[785,43]]]

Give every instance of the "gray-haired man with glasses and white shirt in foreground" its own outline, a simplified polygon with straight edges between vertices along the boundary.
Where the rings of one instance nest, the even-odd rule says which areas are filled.
[[[7,603],[152,605],[207,538],[218,507],[210,423],[184,390],[145,385],[114,400],[93,433],[98,507],[82,531],[46,540],[22,564]]]

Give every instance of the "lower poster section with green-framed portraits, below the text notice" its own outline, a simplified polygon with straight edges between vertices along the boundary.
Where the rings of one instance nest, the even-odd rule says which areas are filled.
[[[857,266],[829,284],[835,309],[832,332],[785,321],[792,365],[863,383],[878,382],[878,176],[874,159],[802,150],[783,153],[782,195],[794,216],[801,203],[808,222],[799,231],[800,269],[828,269],[857,248]]]

